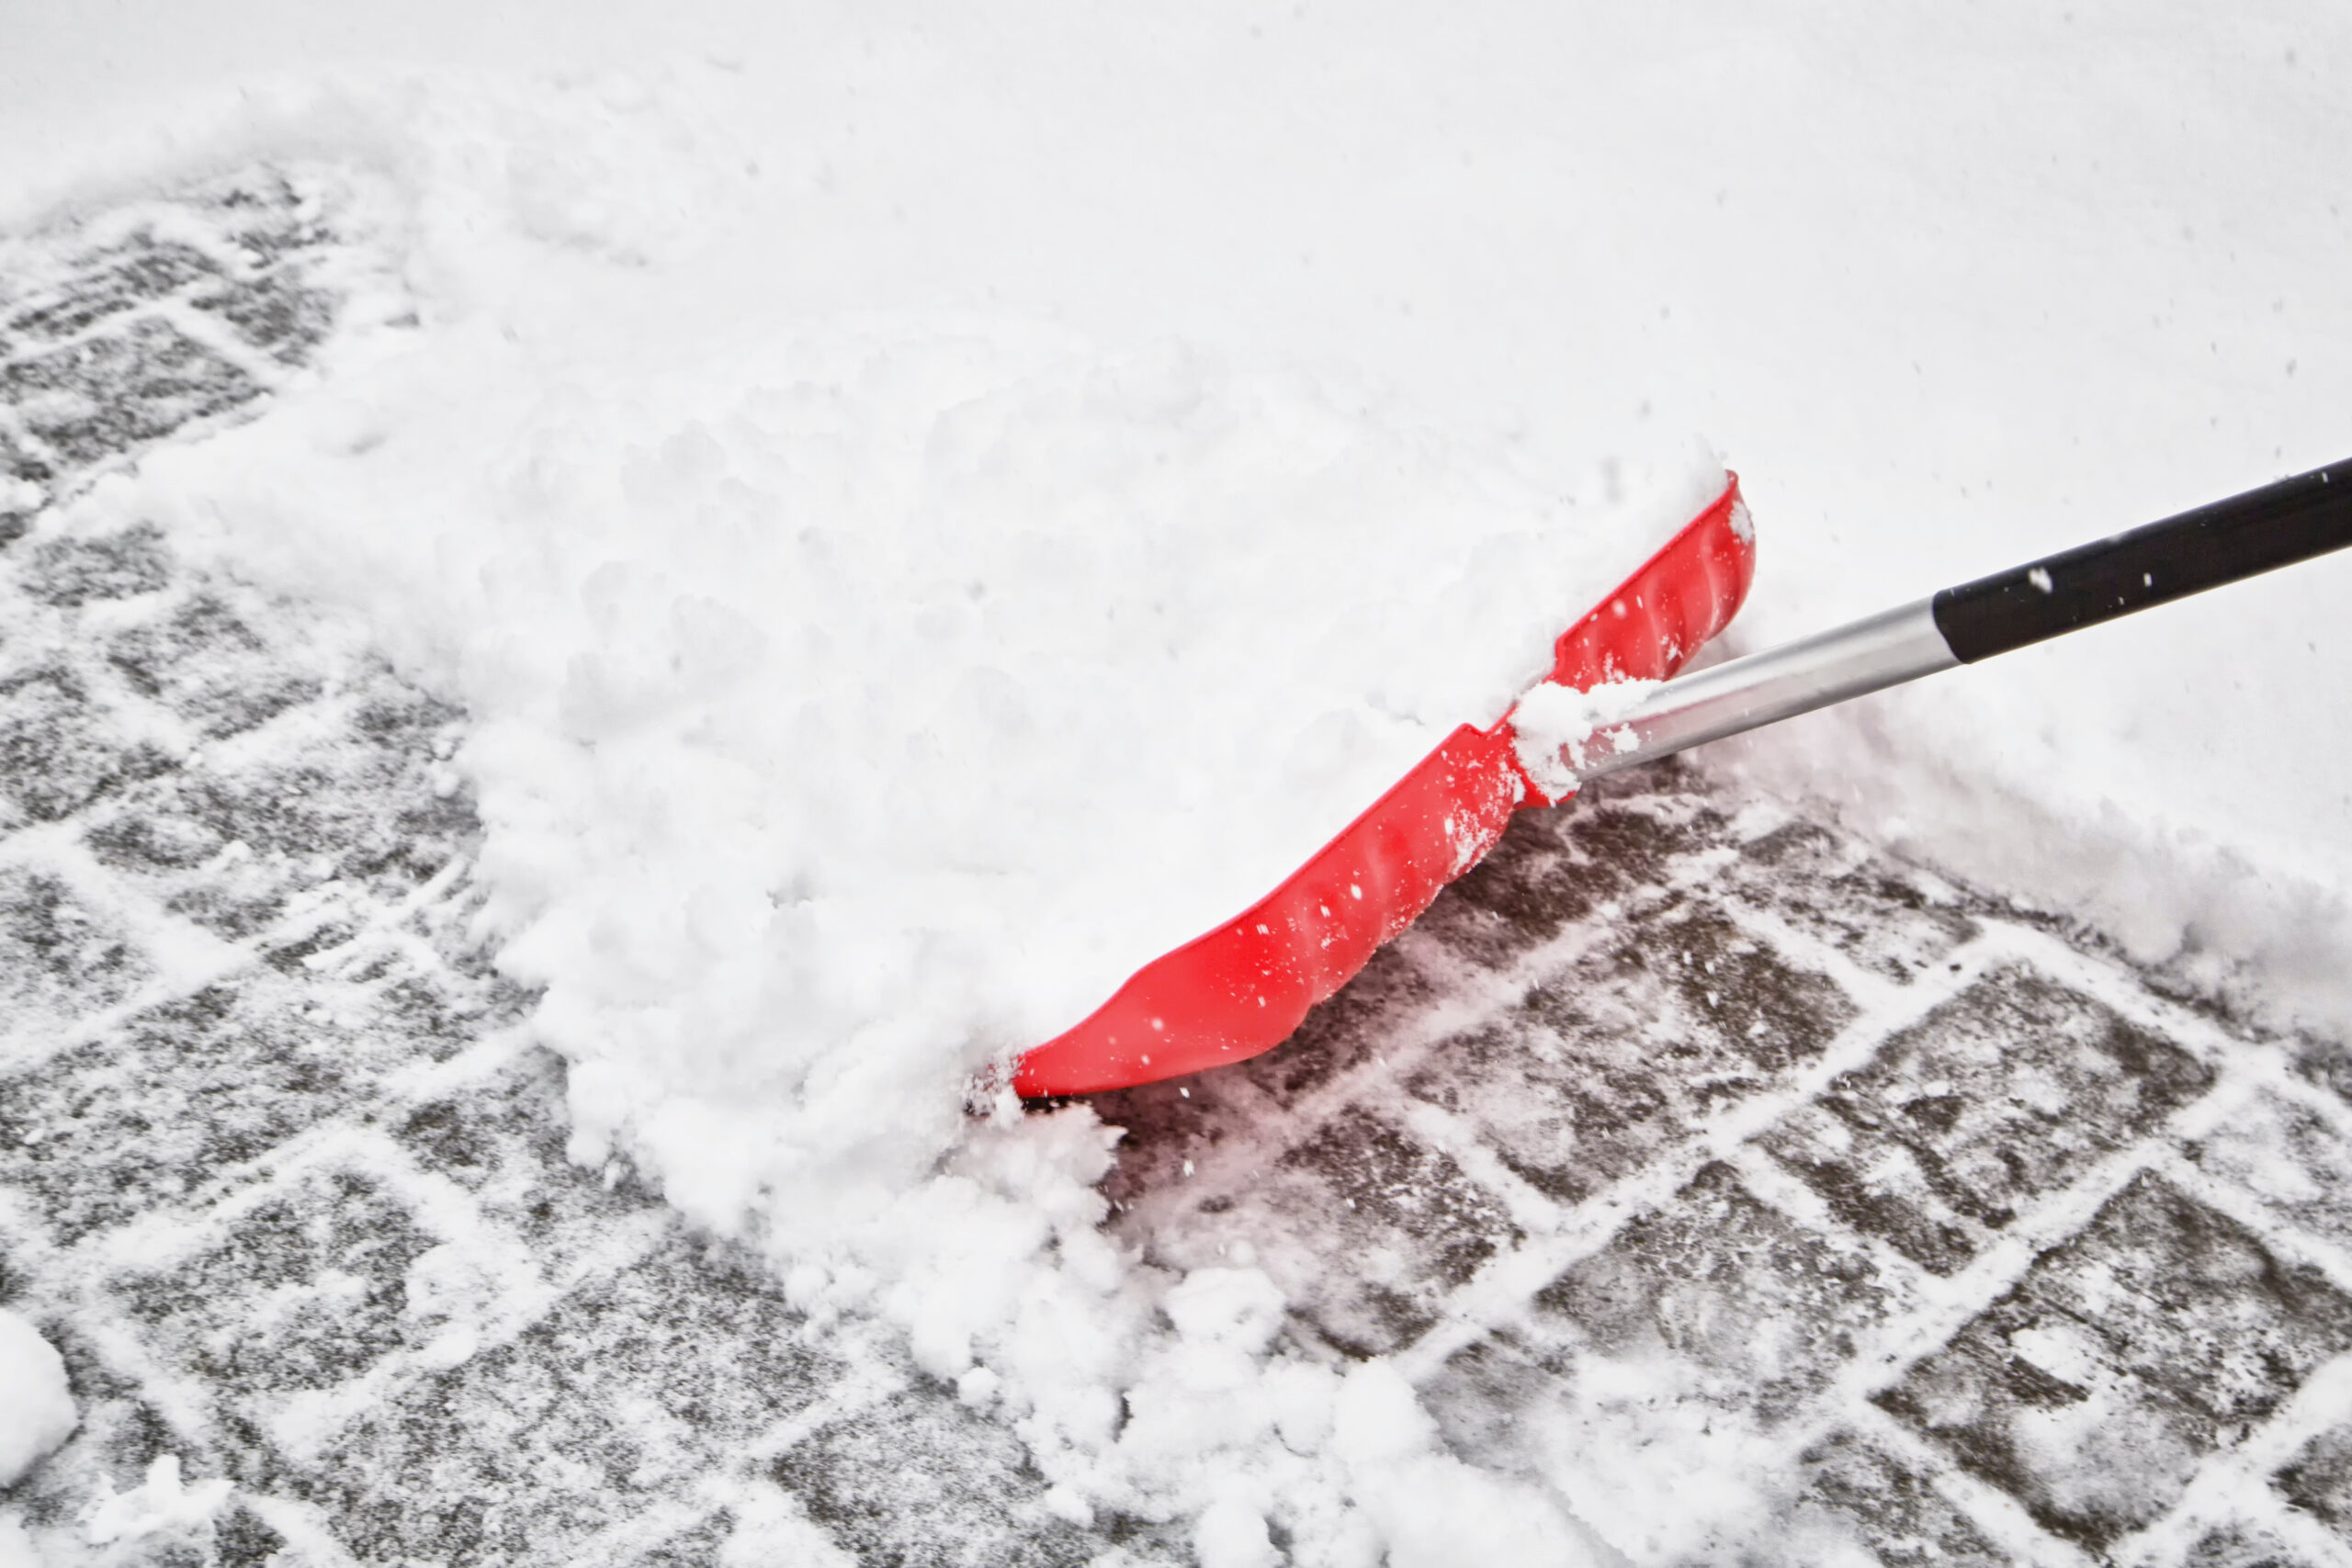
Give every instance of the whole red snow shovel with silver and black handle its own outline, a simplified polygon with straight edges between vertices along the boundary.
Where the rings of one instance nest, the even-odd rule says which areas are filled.
[[[1573,748],[1578,780],[2023,649],[2352,545],[2352,461],[1999,571],[1766,654],[1668,679]],[[1738,480],[1555,646],[1552,682],[1665,679],[1724,625],[1755,576]],[[1555,799],[1522,771],[1510,717],[1461,726],[1279,889],[1152,959],[1075,1030],[1021,1058],[1021,1095],[1070,1095],[1240,1063],[1494,849],[1519,806]],[[1606,752],[1606,755],[1602,755]]]

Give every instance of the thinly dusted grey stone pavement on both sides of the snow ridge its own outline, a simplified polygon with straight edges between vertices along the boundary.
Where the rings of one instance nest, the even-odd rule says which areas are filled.
[[[811,1335],[562,1157],[466,936],[463,715],[153,527],[266,416],[334,172],[0,249],[0,1302],[59,1561],[1183,1561],[1042,1507],[887,1335]],[[1639,1563],[2352,1563],[2352,1053],[1677,766],[1524,816],[1301,1037],[1101,1098],[1117,1234],[1256,1260]],[[233,1500],[92,1547],[158,1455]]]

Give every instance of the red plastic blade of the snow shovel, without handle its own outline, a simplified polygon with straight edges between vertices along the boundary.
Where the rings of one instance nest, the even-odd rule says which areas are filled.
[[[1552,644],[1552,679],[1665,679],[1722,632],[1755,578],[1740,482]],[[1463,724],[1397,788],[1237,919],[1152,959],[1084,1023],[1021,1058],[1014,1091],[1075,1095],[1240,1063],[1289,1039],[1444,884],[1543,797],[1510,719]]]

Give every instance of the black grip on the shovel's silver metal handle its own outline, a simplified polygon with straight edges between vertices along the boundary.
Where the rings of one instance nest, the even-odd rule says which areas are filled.
[[[1973,665],[2079,625],[2352,545],[2352,461],[1936,595],[1936,630]]]

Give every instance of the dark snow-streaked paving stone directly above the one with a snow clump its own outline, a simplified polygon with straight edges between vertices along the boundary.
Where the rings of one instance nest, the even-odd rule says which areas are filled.
[[[1952,1274],[2211,1084],[2187,1051],[2009,966],[1757,1143],[1842,1220]]]

